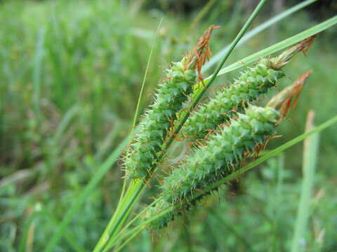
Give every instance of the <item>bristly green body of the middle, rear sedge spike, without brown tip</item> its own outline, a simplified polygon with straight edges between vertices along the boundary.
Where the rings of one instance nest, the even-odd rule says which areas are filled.
[[[208,103],[192,114],[183,128],[183,135],[189,141],[204,139],[209,130],[227,123],[236,113],[242,111],[247,102],[258,99],[284,76],[282,70],[272,69],[270,59],[260,59],[256,66],[247,69],[229,88],[216,93]]]

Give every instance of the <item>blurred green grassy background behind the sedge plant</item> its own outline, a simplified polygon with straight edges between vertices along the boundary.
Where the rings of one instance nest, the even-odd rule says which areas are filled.
[[[298,2],[269,1],[253,27]],[[98,166],[126,137],[161,17],[142,109],[169,62],[180,60],[209,25],[222,26],[211,39],[216,54],[232,41],[256,1],[213,1],[199,19],[206,3],[0,1],[0,251],[44,251]],[[336,12],[336,1],[312,4],[238,47],[228,64]],[[319,35],[307,57],[297,55],[286,66],[288,78],[279,87],[304,71],[313,73],[279,129],[283,137],[267,148],[302,134],[309,109],[315,110],[317,125],[336,115],[336,41],[332,27]],[[230,83],[238,73],[217,83]],[[337,251],[336,130],[320,134],[305,251]],[[303,144],[293,146],[169,229],[144,232],[125,251],[289,251],[302,152]],[[55,251],[93,248],[117,204],[121,176],[118,162],[86,199]]]

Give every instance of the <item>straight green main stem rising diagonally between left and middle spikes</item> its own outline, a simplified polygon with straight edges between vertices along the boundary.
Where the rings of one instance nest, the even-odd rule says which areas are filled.
[[[234,41],[232,42],[231,46],[230,46],[230,50],[227,51],[227,53],[225,54],[225,56],[223,57],[223,59],[221,59],[220,63],[218,64],[216,71],[214,71],[214,73],[211,76],[211,79],[209,80],[209,82],[207,83],[207,87],[209,87],[213,81],[216,79],[221,67],[223,66],[223,64],[225,64],[226,60],[228,59],[228,57],[230,56],[230,54],[232,53],[232,50],[234,50],[235,45],[237,45],[237,43],[239,42],[239,40],[242,38],[242,36],[244,36],[244,33],[246,32],[246,30],[249,28],[249,26],[251,25],[251,23],[253,22],[254,18],[256,18],[256,15],[258,15],[258,13],[260,12],[260,10],[263,8],[263,6],[265,5],[267,0],[261,0],[260,3],[258,3],[258,6],[256,7],[256,9],[253,11],[253,13],[251,14],[251,16],[249,17],[249,20],[247,20],[247,22],[245,23],[244,27],[242,27],[242,29],[239,31],[239,34],[237,34],[237,36],[234,38]],[[190,116],[190,113],[192,112],[192,110],[194,109],[195,106],[197,106],[197,103],[199,102],[199,100],[201,99],[201,97],[203,96],[204,92],[206,92],[206,89],[201,90],[201,92],[198,94],[197,98],[194,99],[194,102],[192,103],[192,105],[190,106],[189,111],[187,111],[187,113],[185,114],[183,120],[180,121],[180,124],[178,125],[178,127],[176,128],[174,134],[178,134],[180,129],[183,127],[185,121],[187,120],[187,118]],[[169,146],[171,146],[172,142],[174,140],[174,137],[172,136],[169,141],[165,144],[164,150],[162,151],[161,155],[159,155],[159,158],[157,160],[157,162],[160,162],[160,160],[162,158],[164,158],[164,155],[166,155],[166,151],[169,149]],[[152,171],[155,169],[156,167],[152,167]],[[133,185],[137,185],[137,184],[133,184]],[[118,231],[121,227],[121,225],[123,225],[122,219],[124,218],[124,215],[126,214],[126,212],[129,211],[129,208],[131,207],[131,205],[133,205],[133,202],[135,202],[135,200],[138,198],[138,195],[140,195],[140,192],[143,190],[144,188],[144,183],[138,182],[138,186],[136,187],[136,195],[132,195],[130,200],[128,201],[122,201],[122,204],[125,205],[123,211],[121,211],[121,214],[119,214],[118,212],[117,215],[119,216],[117,218],[117,221],[115,220],[115,214],[112,216],[112,218],[114,219],[113,221],[110,221],[110,223],[114,223],[113,225],[111,225],[111,228],[108,227],[105,229],[105,231],[103,232],[103,235],[100,237],[100,241],[98,241],[98,244],[95,246],[94,248],[94,252],[98,252],[101,251],[103,246],[105,246],[105,244],[107,243],[107,241],[109,239],[114,239],[113,235],[114,233],[116,233],[116,230]],[[109,223],[109,224],[110,224]],[[112,234],[111,237],[109,237]]]

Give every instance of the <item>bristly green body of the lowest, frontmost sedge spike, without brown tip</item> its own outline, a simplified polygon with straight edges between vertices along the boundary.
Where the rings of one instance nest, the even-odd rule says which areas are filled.
[[[223,127],[218,134],[210,137],[206,146],[195,150],[178,169],[164,179],[161,186],[163,201],[171,207],[188,206],[195,200],[189,198],[199,190],[211,186],[230,174],[244,159],[246,151],[254,151],[257,144],[263,144],[275,131],[279,113],[270,107],[249,106],[246,114],[238,113],[237,120],[231,120],[229,127]],[[185,202],[185,204],[184,204]],[[150,208],[147,218],[163,209],[163,202]],[[178,211],[173,211],[157,219],[151,225],[159,229],[173,220]]]

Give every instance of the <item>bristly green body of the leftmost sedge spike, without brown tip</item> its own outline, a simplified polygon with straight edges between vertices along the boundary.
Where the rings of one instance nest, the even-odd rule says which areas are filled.
[[[130,179],[145,179],[149,175],[171,123],[176,120],[176,113],[192,93],[197,71],[192,67],[185,69],[185,60],[173,62],[171,69],[167,70],[154,104],[145,112],[145,118],[136,130],[135,141],[124,158],[126,175]]]

